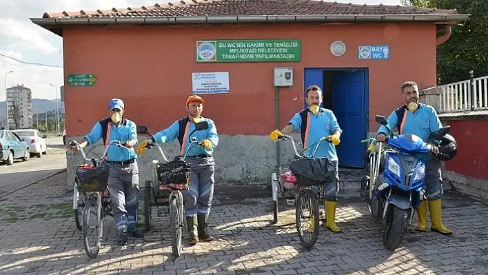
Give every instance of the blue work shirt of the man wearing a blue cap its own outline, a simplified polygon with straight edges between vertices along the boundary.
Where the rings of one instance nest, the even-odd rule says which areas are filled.
[[[128,119],[123,119],[118,126],[114,125],[112,122],[109,122],[108,126],[110,127],[110,134],[107,144],[111,141],[121,141],[122,143],[125,143],[131,139],[136,139],[137,141],[136,123]],[[88,141],[88,144],[96,143],[96,141],[99,141],[99,139],[102,138],[102,133],[102,126],[99,121],[92,128],[92,132],[85,136],[85,139]],[[134,152],[134,147],[129,149],[112,144],[108,148],[108,156],[105,159],[108,161],[129,161],[131,159],[137,159],[137,154]]]

